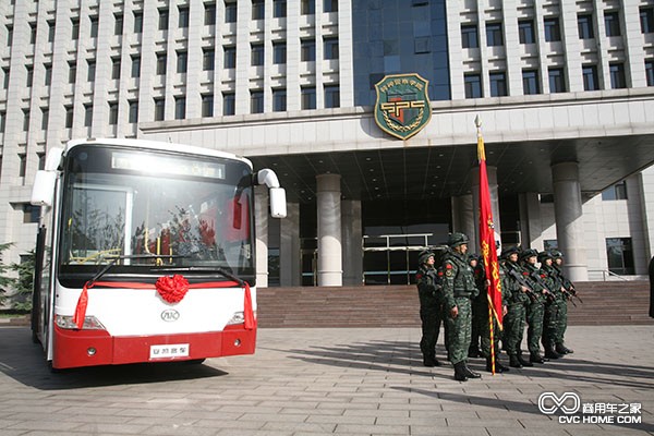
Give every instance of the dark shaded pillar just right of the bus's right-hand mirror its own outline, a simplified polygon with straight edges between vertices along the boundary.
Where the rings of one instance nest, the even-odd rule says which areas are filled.
[[[287,216],[280,220],[279,281],[282,287],[302,284],[300,261],[300,205],[287,203]]]

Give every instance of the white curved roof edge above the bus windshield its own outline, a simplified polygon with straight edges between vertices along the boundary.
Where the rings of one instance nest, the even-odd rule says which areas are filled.
[[[210,148],[196,147],[193,145],[185,144],[174,144],[174,143],[165,143],[160,141],[147,141],[147,140],[126,140],[126,138],[80,138],[80,140],[71,140],[66,143],[63,154],[66,155],[73,147],[83,144],[107,144],[107,145],[120,145],[130,148],[142,148],[142,149],[152,149],[152,150],[165,150],[165,152],[173,152],[173,153],[182,153],[187,155],[197,155],[197,156],[213,156],[213,157],[222,157],[225,159],[233,159],[240,160],[246,164],[250,168],[252,167],[252,162],[250,159],[244,158],[242,156],[237,156],[231,153],[219,152]]]

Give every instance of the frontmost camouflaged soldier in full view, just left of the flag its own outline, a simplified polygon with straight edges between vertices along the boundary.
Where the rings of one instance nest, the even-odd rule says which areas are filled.
[[[474,274],[468,263],[468,237],[463,233],[451,233],[448,245],[451,252],[443,263],[445,293],[445,311],[448,324],[449,359],[455,366],[455,379],[465,382],[468,378],[480,378],[481,375],[467,365],[470,347],[471,299],[479,293],[474,283]]]

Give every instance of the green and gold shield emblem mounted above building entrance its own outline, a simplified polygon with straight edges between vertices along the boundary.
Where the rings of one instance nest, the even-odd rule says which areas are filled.
[[[408,140],[432,118],[428,81],[419,74],[392,74],[375,85],[375,122],[386,133]]]

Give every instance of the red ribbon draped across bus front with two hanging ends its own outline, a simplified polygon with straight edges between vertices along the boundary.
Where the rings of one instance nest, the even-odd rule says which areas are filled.
[[[183,276],[179,276],[182,277]],[[244,327],[246,330],[256,328],[256,319],[254,317],[254,311],[252,308],[252,294],[250,292],[250,283],[244,282],[245,295],[243,298],[243,318]],[[156,289],[155,284],[150,283],[138,283],[138,282],[116,282],[116,281],[96,281],[90,283],[87,281],[82,288],[82,293],[77,300],[75,306],[75,314],[73,315],[73,323],[78,329],[84,326],[84,318],[86,317],[86,306],[88,305],[88,289],[96,286],[106,288],[132,288],[132,289]],[[233,288],[238,287],[239,283],[235,281],[208,281],[205,283],[192,283],[189,284],[189,289],[207,289],[207,288]],[[181,299],[180,299],[181,300]]]

